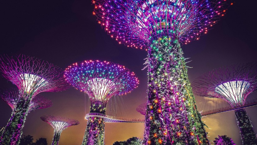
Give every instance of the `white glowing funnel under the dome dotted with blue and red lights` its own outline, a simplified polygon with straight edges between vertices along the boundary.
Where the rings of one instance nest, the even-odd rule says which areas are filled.
[[[103,101],[107,94],[109,94],[109,92],[115,86],[115,83],[103,78],[93,78],[87,83],[97,101]]]

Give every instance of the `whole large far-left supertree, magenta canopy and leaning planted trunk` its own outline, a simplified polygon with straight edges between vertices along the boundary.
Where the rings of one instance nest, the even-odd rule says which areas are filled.
[[[2,55],[0,71],[19,90],[16,107],[3,129],[0,144],[19,144],[31,100],[41,92],[57,92],[68,86],[60,68],[26,55]]]

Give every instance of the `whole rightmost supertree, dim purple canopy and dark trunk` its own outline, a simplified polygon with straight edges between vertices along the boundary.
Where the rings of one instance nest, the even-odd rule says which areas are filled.
[[[193,82],[194,93],[202,97],[221,98],[235,110],[243,144],[257,144],[250,118],[243,108],[248,94],[257,89],[257,65],[233,64],[198,77]],[[239,109],[238,109],[239,108]]]

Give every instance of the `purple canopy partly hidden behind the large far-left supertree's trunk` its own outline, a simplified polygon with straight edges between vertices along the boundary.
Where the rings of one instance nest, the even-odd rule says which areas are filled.
[[[18,90],[6,90],[6,91],[2,91],[0,93],[0,99],[4,102],[6,102],[12,109],[12,111],[15,110],[16,105],[19,101],[19,92]],[[32,110],[35,109],[44,109],[44,108],[49,108],[51,107],[52,101],[43,97],[42,95],[38,94],[37,96],[35,96],[30,104],[29,104],[29,109],[28,112],[31,112]]]

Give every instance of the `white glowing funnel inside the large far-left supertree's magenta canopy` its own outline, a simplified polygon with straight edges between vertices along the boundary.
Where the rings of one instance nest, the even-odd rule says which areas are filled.
[[[29,94],[47,84],[44,78],[29,73],[20,74],[20,78],[22,79],[25,91]]]

